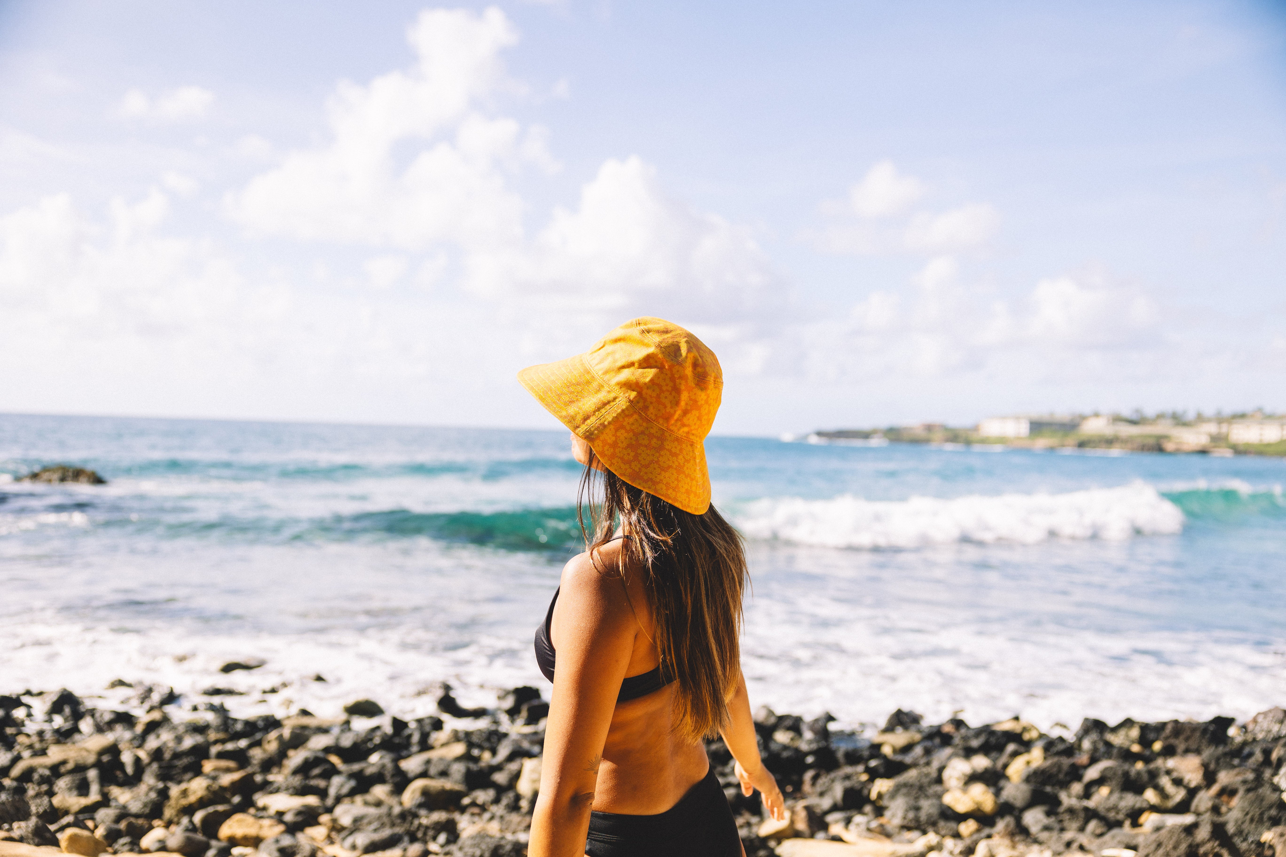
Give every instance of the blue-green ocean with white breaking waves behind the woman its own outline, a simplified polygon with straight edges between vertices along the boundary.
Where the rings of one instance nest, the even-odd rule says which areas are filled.
[[[1075,729],[1286,703],[1281,459],[706,448],[754,705]],[[58,463],[109,484],[14,481]],[[0,693],[410,717],[441,681],[548,691],[579,474],[566,432],[0,415]]]

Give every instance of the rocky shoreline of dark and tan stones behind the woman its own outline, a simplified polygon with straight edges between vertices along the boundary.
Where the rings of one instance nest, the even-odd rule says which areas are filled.
[[[540,781],[548,704],[532,687],[404,721],[237,718],[139,689],[130,711],[67,690],[0,696],[0,857],[518,857]],[[711,764],[747,857],[1286,857],[1286,711],[1244,723],[1085,720],[1046,735],[1013,718],[874,735],[760,709],[790,806],[764,821]]]

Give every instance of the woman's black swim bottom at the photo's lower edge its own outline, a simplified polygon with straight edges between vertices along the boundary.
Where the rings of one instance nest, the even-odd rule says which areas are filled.
[[[589,857],[741,857],[741,836],[714,770],[655,816],[589,813]]]

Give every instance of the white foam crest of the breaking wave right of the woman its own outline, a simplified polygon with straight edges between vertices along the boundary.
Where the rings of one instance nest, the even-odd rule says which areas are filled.
[[[955,542],[1034,545],[1051,538],[1123,540],[1178,533],[1183,513],[1137,482],[1067,493],[1007,493],[949,500],[756,500],[733,513],[759,540],[823,547],[926,547]]]

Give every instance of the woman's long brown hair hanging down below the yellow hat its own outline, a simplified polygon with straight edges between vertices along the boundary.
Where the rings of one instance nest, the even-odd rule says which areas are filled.
[[[631,560],[644,573],[661,671],[678,687],[674,730],[700,741],[727,726],[728,698],[741,675],[741,601],[747,583],[741,535],[712,505],[694,515],[595,464],[590,452],[576,497],[581,535],[590,558],[612,540],[617,524],[629,535],[621,569]],[[595,487],[602,490],[597,500]]]

